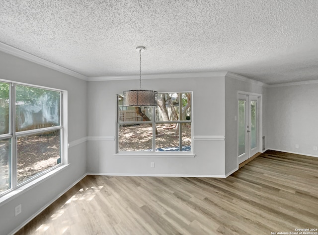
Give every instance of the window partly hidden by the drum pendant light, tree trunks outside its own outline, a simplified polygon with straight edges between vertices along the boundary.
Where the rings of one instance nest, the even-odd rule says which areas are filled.
[[[118,152],[191,152],[192,92],[159,93],[157,107],[124,107],[118,95]]]

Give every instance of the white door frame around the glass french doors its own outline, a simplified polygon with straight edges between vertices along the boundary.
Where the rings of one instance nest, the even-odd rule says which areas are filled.
[[[247,95],[247,96],[257,96],[258,97],[258,104],[257,104],[257,111],[258,111],[258,132],[257,132],[257,142],[258,142],[258,146],[257,146],[257,152],[262,152],[263,146],[262,145],[262,136],[263,136],[263,97],[262,94],[258,94],[258,93],[251,93],[251,92],[243,92],[243,91],[238,91],[237,93],[237,157],[238,157],[238,166],[239,166],[239,95]],[[248,100],[248,99],[247,99]],[[250,104],[246,104],[246,108],[250,109]],[[249,119],[249,117],[248,117]],[[248,144],[248,148],[249,148]],[[245,146],[246,147],[246,146]],[[252,156],[248,156],[247,159],[249,159]]]

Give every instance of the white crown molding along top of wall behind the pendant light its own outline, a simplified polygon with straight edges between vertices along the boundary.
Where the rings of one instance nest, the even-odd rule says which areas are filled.
[[[228,72],[196,72],[196,73],[168,73],[168,74],[145,74],[143,79],[164,79],[164,78],[211,78],[224,77]],[[102,76],[88,77],[89,82],[114,81],[114,80],[133,80],[139,79],[139,75],[126,76]]]

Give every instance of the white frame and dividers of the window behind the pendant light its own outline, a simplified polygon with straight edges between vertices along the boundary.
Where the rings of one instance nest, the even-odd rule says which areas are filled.
[[[116,94],[116,153],[115,155],[116,156],[163,156],[163,157],[194,157],[195,154],[194,154],[194,141],[193,141],[193,130],[194,130],[194,121],[193,121],[193,118],[194,118],[194,107],[193,107],[193,92],[192,91],[181,91],[181,92],[159,92],[159,94],[166,94],[166,93],[169,93],[169,94],[172,94],[172,93],[191,93],[191,115],[190,115],[190,120],[171,120],[171,121],[156,121],[156,112],[155,112],[155,109],[156,107],[153,107],[153,117],[152,117],[152,120],[151,121],[119,121],[119,112],[118,112],[118,95],[122,95],[122,94]],[[119,141],[119,138],[118,138],[118,135],[119,135],[119,126],[120,124],[131,124],[131,123],[134,123],[134,124],[153,124],[156,125],[156,124],[161,124],[161,123],[190,123],[191,124],[191,151],[156,151],[156,128],[153,128],[153,138],[152,138],[152,145],[153,145],[153,150],[152,151],[119,151],[119,144],[118,144],[118,141]],[[180,125],[181,126],[181,125]],[[179,129],[179,131],[182,131],[181,130],[181,127]],[[179,141],[181,139],[181,135],[179,134]],[[180,144],[179,144],[179,147],[180,147]]]

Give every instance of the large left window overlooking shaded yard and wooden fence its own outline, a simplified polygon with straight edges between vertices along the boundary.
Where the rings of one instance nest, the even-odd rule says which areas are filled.
[[[62,91],[0,81],[0,194],[61,164]]]

